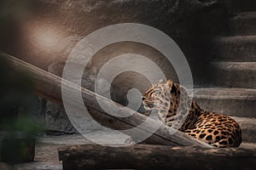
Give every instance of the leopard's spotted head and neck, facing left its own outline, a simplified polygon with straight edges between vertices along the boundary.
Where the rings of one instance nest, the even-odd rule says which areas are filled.
[[[178,108],[181,103],[180,108]],[[143,95],[143,106],[147,111],[157,111],[160,120],[189,111],[191,100],[183,86],[168,80],[152,85]],[[148,114],[148,113],[147,113]]]

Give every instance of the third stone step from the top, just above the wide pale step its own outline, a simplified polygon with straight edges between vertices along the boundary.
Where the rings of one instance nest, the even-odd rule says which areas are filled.
[[[256,88],[256,62],[212,62],[213,86]]]

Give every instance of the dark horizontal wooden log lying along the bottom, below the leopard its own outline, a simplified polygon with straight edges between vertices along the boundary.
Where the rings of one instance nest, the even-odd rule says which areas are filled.
[[[63,170],[73,169],[253,169],[256,149],[201,149],[135,144],[84,144],[59,148]]]

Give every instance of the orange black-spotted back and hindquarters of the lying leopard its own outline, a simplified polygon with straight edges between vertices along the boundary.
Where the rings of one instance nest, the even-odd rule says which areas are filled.
[[[204,112],[195,122],[195,127],[184,133],[216,147],[238,147],[241,144],[241,128],[229,116]]]

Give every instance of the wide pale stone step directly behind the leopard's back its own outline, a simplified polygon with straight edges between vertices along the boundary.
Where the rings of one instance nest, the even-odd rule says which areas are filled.
[[[256,117],[256,89],[195,88],[194,99],[205,111],[227,116]]]

